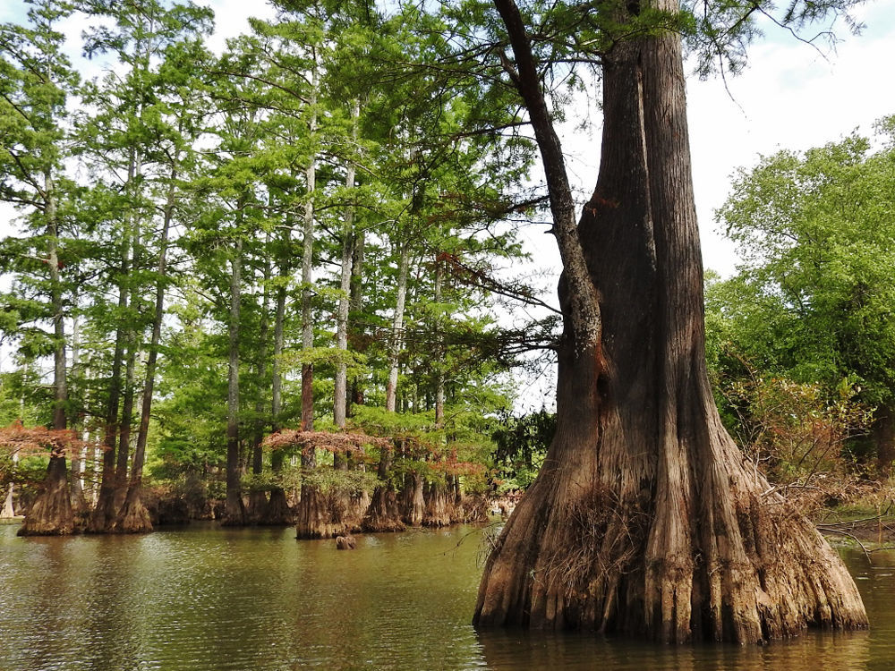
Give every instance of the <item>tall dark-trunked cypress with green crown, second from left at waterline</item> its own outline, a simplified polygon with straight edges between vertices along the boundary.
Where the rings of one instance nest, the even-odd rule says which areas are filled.
[[[115,332],[115,349],[107,389],[102,484],[89,524],[90,531],[103,532],[114,526],[128,488],[137,354],[151,322],[142,314],[149,312],[143,308],[148,307],[151,292],[145,282],[149,275],[144,272],[145,257],[156,242],[154,199],[167,200],[166,195],[150,191],[159,171],[169,170],[169,146],[163,143],[173,134],[158,91],[158,69],[166,49],[210,30],[211,13],[193,4],[166,6],[155,0],[90,0],[83,9],[114,21],[114,26],[100,23],[85,33],[85,53],[114,55],[125,68],[124,76],[109,72],[88,88],[85,101],[94,111],[84,115],[79,138],[81,156],[102,187],[94,189],[101,194],[100,207],[106,208],[101,215],[106,227],[99,235],[114,257],[103,272],[118,294],[107,319],[107,328]],[[101,287],[97,306],[105,302],[104,292]]]

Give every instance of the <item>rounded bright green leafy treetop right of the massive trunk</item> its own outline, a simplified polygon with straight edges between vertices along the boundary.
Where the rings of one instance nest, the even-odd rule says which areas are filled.
[[[761,370],[828,387],[849,378],[863,402],[891,403],[892,193],[895,153],[857,135],[741,171],[718,214],[746,263],[710,285],[714,326]]]

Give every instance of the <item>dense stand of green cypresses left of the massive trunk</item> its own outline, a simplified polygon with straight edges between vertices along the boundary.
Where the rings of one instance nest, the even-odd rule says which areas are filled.
[[[308,537],[481,514],[501,373],[552,327],[495,318],[536,302],[499,279],[537,204],[511,102],[448,94],[414,66],[443,41],[372,4],[284,5],[220,55],[197,4],[29,4],[0,27],[0,420],[69,438],[21,532],[148,531],[147,497]]]

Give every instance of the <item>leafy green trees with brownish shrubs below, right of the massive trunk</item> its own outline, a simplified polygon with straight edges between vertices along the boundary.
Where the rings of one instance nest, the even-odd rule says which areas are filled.
[[[780,486],[831,501],[895,458],[895,149],[877,126],[741,170],[718,217],[743,262],[706,293],[729,429]]]

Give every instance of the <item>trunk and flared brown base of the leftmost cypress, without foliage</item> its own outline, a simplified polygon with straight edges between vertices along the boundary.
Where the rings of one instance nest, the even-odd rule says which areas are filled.
[[[47,266],[50,276],[50,303],[53,309],[53,428],[65,429],[65,406],[68,386],[65,378],[65,312],[62,281],[59,276],[58,222],[53,173],[44,173],[44,192],[47,193],[44,214],[47,217]],[[68,472],[65,453],[54,450],[47,464],[47,475],[38,496],[31,505],[20,536],[59,536],[74,531],[72,499],[68,491]]]

